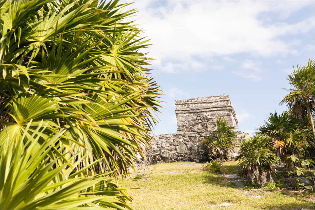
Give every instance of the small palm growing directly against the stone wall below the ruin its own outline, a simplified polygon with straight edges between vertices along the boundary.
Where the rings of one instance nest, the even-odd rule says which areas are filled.
[[[203,140],[207,147],[209,156],[226,158],[230,156],[234,150],[237,138],[236,126],[230,126],[229,123],[220,117],[216,119],[217,131],[212,132],[208,139]]]

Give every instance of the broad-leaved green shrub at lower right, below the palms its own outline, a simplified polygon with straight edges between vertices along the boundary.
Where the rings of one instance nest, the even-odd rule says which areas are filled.
[[[295,178],[295,188],[301,191],[313,191],[314,186],[314,161],[310,159],[299,159],[294,156],[287,157],[290,163],[295,165],[295,170],[289,171],[288,175]],[[303,179],[301,179],[303,177]],[[306,185],[305,181],[309,180],[312,185]]]

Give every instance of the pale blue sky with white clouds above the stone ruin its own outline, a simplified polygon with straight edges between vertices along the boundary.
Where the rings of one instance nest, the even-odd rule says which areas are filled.
[[[238,130],[255,131],[287,94],[293,65],[314,59],[314,1],[137,1],[162,86],[154,134],[176,133],[175,99],[229,95]]]

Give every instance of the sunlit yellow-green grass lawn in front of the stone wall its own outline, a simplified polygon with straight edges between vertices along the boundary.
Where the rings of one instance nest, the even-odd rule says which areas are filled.
[[[222,172],[237,174],[236,165],[223,163]],[[313,196],[265,188],[246,191],[222,174],[203,170],[202,164],[161,163],[149,169],[149,176],[124,184],[139,188],[129,190],[133,209],[314,209]]]

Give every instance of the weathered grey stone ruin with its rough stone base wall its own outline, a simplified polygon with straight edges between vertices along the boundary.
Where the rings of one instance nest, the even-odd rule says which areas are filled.
[[[175,100],[177,133],[155,135],[148,152],[149,163],[206,161],[208,154],[202,140],[216,130],[216,118],[237,126],[238,120],[229,96],[210,96]],[[247,133],[237,131],[238,141]],[[234,154],[235,155],[235,154]]]

